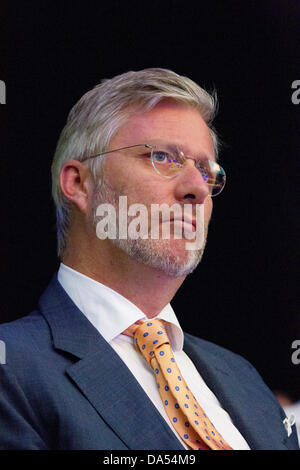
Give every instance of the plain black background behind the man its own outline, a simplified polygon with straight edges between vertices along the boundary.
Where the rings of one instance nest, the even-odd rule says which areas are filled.
[[[170,68],[217,89],[228,175],[172,305],[186,331],[299,399],[300,1],[43,0],[4,2],[1,16],[0,321],[35,308],[58,267],[50,165],[70,108],[103,78]]]

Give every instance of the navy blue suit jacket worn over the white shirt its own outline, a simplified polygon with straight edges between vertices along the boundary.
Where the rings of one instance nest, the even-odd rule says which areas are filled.
[[[0,449],[183,449],[56,276],[38,310],[0,325]],[[184,350],[251,449],[297,449],[285,413],[240,356],[185,334]]]

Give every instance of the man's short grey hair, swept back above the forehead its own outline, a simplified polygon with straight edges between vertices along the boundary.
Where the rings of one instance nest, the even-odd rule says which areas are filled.
[[[191,79],[161,68],[127,72],[102,80],[71,109],[52,162],[52,196],[56,206],[59,257],[66,247],[72,209],[59,183],[64,163],[69,159],[81,161],[104,152],[111,138],[133,112],[148,111],[165,99],[182,102],[199,110],[210,129],[217,157],[218,139],[212,127],[217,109],[215,92],[209,94]],[[87,161],[95,181],[99,178],[102,160]]]

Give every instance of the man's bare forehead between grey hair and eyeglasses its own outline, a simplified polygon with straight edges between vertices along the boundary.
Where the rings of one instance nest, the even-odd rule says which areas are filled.
[[[170,101],[150,111],[133,112],[111,139],[110,148],[156,142],[176,144],[190,154],[214,155],[211,134],[200,112]]]

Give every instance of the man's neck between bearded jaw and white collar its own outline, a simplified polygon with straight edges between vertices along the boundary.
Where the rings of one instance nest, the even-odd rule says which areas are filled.
[[[173,277],[139,263],[105,242],[100,249],[93,249],[90,244],[78,249],[69,243],[62,262],[115,290],[148,318],[155,317],[172,300],[185,277]]]

